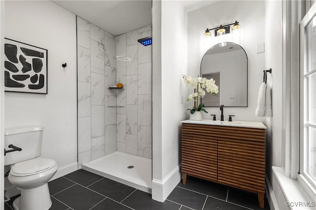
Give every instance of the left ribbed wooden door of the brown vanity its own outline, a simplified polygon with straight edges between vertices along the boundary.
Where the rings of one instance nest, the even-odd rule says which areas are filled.
[[[217,140],[209,135],[210,126],[182,124],[182,172],[217,180]]]

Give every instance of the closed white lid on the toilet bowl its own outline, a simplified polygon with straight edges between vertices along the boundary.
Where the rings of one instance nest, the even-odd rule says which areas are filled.
[[[45,169],[54,167],[56,162],[48,158],[35,158],[20,163],[16,163],[12,168],[12,173],[16,175],[28,175],[36,172],[44,171]]]

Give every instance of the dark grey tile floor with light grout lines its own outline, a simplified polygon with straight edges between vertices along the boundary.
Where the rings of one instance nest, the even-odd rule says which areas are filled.
[[[165,202],[100,175],[78,170],[48,182],[50,210],[262,210],[257,195],[188,176]],[[13,210],[11,198],[5,210]],[[265,209],[270,209],[265,199]]]

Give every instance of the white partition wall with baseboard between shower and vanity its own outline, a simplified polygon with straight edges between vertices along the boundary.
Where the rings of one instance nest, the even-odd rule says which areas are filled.
[[[186,13],[181,2],[153,1],[153,199],[158,201],[163,201],[180,181],[186,34]]]

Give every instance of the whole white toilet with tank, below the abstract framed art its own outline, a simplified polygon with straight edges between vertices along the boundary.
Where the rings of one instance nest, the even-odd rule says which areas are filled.
[[[55,175],[57,164],[52,159],[40,158],[42,126],[8,128],[4,132],[4,165],[11,166],[9,181],[21,189],[14,200],[15,210],[48,210],[52,203],[47,182]],[[21,151],[7,152],[13,144]]]

